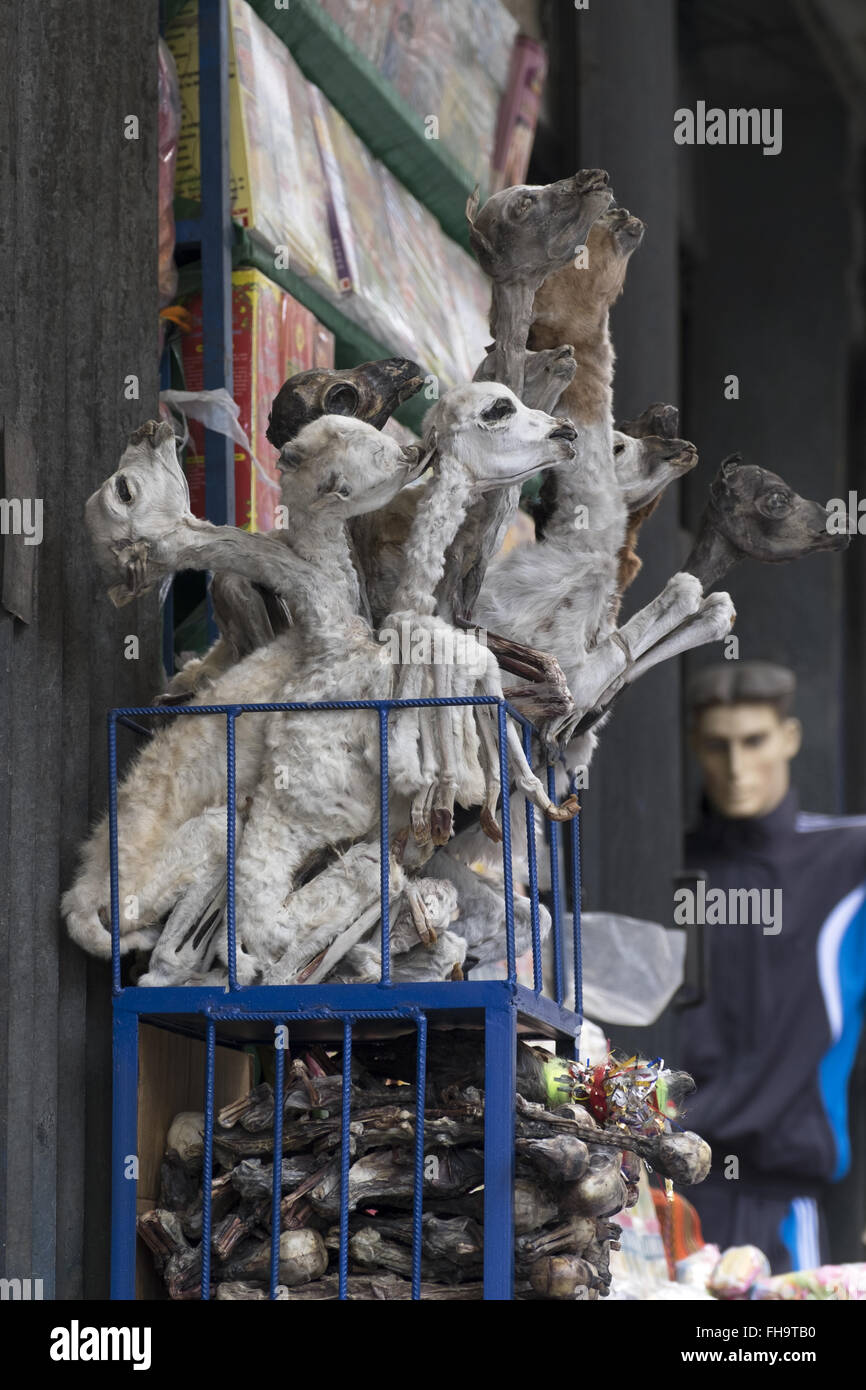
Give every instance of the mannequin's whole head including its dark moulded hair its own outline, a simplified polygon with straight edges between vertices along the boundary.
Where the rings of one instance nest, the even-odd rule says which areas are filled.
[[[794,673],[766,662],[708,666],[689,682],[691,746],[720,816],[767,816],[787,795],[802,739],[794,689]]]

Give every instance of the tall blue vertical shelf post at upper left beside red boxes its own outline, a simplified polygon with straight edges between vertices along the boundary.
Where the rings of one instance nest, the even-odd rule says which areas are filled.
[[[199,0],[199,131],[202,160],[202,335],[206,391],[232,379],[232,211],[229,178],[228,4]],[[204,431],[204,510],[235,523],[235,445]]]

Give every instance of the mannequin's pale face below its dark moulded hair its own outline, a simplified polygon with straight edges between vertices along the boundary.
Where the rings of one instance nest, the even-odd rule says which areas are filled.
[[[780,719],[767,703],[709,705],[695,717],[691,742],[708,801],[719,815],[731,820],[767,816],[791,785],[801,726],[796,719]]]

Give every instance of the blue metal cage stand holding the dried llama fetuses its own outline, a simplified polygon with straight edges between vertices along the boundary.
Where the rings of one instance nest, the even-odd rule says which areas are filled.
[[[499,763],[502,777],[502,863],[507,976],[505,980],[441,981],[395,984],[391,979],[389,944],[389,824],[388,824],[388,731],[389,714],[399,709],[435,705],[495,705],[499,720]],[[327,717],[334,710],[371,710],[379,731],[379,863],[381,863],[381,974],[374,984],[295,984],[242,987],[236,979],[235,920],[235,733],[236,720],[268,713],[313,713]],[[413,1187],[413,1275],[411,1297],[421,1290],[421,1215],[424,1184],[424,1094],[427,1080],[427,1037],[430,1020],[484,1029],[484,1298],[513,1297],[514,1262],[514,1106],[517,1036],[548,1037],[560,1055],[575,1058],[581,1029],[581,941],[580,941],[580,827],[578,820],[560,827],[548,823],[550,863],[550,916],[553,954],[553,998],[544,992],[542,942],[538,910],[538,865],[534,808],[527,802],[527,865],[532,940],[532,988],[517,980],[514,941],[514,888],[512,869],[510,790],[506,719],[523,726],[524,749],[532,762],[532,726],[505,701],[493,696],[463,696],[416,701],[336,701],[329,703],[284,702],[267,705],[192,705],[167,709],[139,706],[108,714],[108,828],[111,863],[111,955],[114,992],[114,1101],[113,1101],[113,1184],[111,1184],[111,1297],[135,1297],[136,1261],[136,1172],[129,1155],[138,1154],[138,1068],[139,1023],[190,1033],[206,1040],[204,1072],[204,1158],[203,1193],[210,1194],[214,1151],[215,1048],[218,1041],[257,1041],[274,1047],[274,1184],[271,1227],[270,1293],[275,1297],[279,1264],[279,1202],[285,1049],[288,1040],[327,1038],[342,1044],[342,1134],[341,1134],[341,1237],[339,1298],[348,1295],[349,1270],[349,1166],[350,1166],[350,1063],[356,1036],[382,1029],[414,1029],[417,1036],[416,1133]],[[120,958],[118,901],[118,806],[117,733],[118,724],[150,733],[138,723],[143,716],[221,717],[225,720],[227,755],[227,938],[228,986],[217,987],[124,987]],[[555,796],[553,769],[548,767],[548,790]],[[563,1002],[563,922],[560,890],[560,828],[564,831],[571,866],[570,947],[574,969],[573,1008]],[[210,1297],[211,1202],[204,1200],[202,1219],[202,1298]]]

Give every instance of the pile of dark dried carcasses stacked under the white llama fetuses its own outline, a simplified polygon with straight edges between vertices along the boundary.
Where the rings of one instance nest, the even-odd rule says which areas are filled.
[[[414,1037],[357,1044],[352,1061],[349,1280],[352,1300],[409,1298],[416,1138]],[[481,1298],[484,1049],[477,1033],[434,1030],[424,1106],[421,1298]],[[279,1294],[338,1297],[342,1076],[320,1047],[284,1090]],[[671,1127],[683,1076],[609,1061],[585,1069],[518,1042],[514,1177],[517,1298],[595,1300],[610,1284],[612,1222],[637,1201],[641,1161],[691,1184],[708,1145]],[[569,1097],[557,1104],[562,1095]],[[267,1298],[271,1270],[274,1091],[224,1106],[214,1129],[211,1297]],[[160,1207],[139,1218],[168,1294],[202,1294],[203,1116],[177,1116]],[[614,1247],[616,1248],[616,1247]]]

